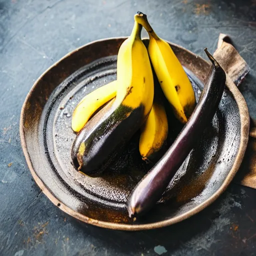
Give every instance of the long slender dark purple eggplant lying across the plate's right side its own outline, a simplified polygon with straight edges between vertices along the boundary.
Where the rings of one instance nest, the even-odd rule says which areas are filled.
[[[210,68],[199,102],[164,156],[136,185],[127,202],[129,216],[148,211],[161,197],[202,129],[212,120],[225,87],[225,72],[205,48]]]

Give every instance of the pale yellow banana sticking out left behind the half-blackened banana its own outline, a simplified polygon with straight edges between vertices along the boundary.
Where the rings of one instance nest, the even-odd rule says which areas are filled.
[[[80,100],[72,115],[71,127],[73,131],[80,131],[100,106],[115,97],[116,87],[116,80],[109,82],[93,90]]]

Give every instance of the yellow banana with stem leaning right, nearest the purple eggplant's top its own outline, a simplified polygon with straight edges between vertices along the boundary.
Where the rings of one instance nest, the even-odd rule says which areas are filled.
[[[173,107],[175,116],[186,123],[195,107],[192,85],[170,45],[158,37],[142,12],[135,20],[149,34],[148,54],[165,97]]]

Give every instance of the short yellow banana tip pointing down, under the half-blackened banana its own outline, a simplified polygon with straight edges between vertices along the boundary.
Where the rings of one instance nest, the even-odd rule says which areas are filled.
[[[158,152],[168,135],[168,122],[164,106],[153,101],[139,137],[139,152],[143,160]]]

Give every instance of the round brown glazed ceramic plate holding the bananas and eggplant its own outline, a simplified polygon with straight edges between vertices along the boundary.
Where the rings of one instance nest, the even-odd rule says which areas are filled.
[[[68,53],[37,79],[21,110],[21,145],[35,182],[61,210],[105,228],[157,228],[197,213],[225,190],[244,155],[248,110],[241,93],[227,77],[211,124],[202,131],[161,201],[133,221],[127,214],[127,197],[152,165],[139,156],[139,133],[98,177],[77,172],[70,158],[76,136],[71,129],[72,111],[84,95],[116,79],[116,54],[125,38],[88,43]],[[192,81],[198,100],[210,64],[178,45],[170,45]],[[177,135],[177,127],[175,121],[169,123],[169,143]]]

